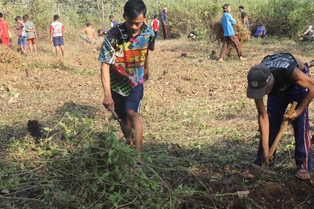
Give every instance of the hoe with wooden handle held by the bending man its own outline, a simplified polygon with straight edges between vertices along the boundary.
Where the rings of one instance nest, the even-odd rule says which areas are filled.
[[[290,107],[288,116],[290,116],[293,113],[293,111],[295,110],[295,107],[296,107],[297,104],[298,104],[297,102],[292,102],[292,105]],[[279,132],[278,132],[278,134],[277,134],[273,144],[270,147],[270,150],[269,150],[268,156],[267,156],[268,160],[274,154],[275,149],[276,149],[276,147],[277,147],[281,137],[283,136],[283,133],[284,133],[287,125],[288,125],[288,122],[289,122],[288,119],[284,120],[284,122],[283,122],[283,124],[282,124],[282,126],[281,126],[281,128],[280,128],[280,130],[279,130]],[[266,162],[264,162],[262,164],[262,167],[259,166],[259,165],[256,165],[256,164],[252,164],[249,169],[250,169],[250,173],[255,175],[255,176],[260,176],[260,175],[264,175],[264,176],[268,176],[268,177],[276,176],[275,172],[267,169],[267,163]]]

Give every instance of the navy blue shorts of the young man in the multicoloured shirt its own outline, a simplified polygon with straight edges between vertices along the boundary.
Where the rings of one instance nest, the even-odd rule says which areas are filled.
[[[114,101],[114,109],[119,118],[127,118],[127,110],[133,110],[139,113],[139,106],[144,95],[144,85],[135,86],[129,96],[123,96],[111,90]]]

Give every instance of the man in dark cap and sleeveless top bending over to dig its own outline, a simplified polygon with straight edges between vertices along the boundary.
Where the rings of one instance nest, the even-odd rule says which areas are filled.
[[[261,64],[251,68],[247,75],[247,97],[254,99],[258,111],[261,133],[257,159],[259,166],[267,159],[269,148],[280,130],[283,117],[292,121],[295,139],[296,177],[310,179],[308,170],[312,168],[312,147],[309,131],[308,106],[314,98],[314,80],[310,71],[299,59],[289,53],[266,56]],[[263,96],[267,97],[267,111]],[[293,113],[285,111],[289,103],[298,103]]]

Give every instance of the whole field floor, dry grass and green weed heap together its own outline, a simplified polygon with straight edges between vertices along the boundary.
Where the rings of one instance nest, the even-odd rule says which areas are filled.
[[[240,176],[254,161],[259,141],[255,104],[246,97],[248,70],[278,52],[313,60],[313,43],[251,38],[242,46],[245,62],[232,51],[218,63],[218,43],[157,40],[141,104],[145,169],[137,174],[118,157],[126,146],[115,148],[117,141],[108,143],[114,136],[102,134],[111,130],[123,138],[102,105],[101,43],[101,38],[94,45],[66,40],[66,56],[59,60],[45,41],[38,42],[38,54],[28,56],[17,47],[0,47],[0,189],[8,189],[0,194],[0,208],[313,208],[314,172],[311,181],[294,177],[290,126],[272,168],[277,178]],[[309,110],[313,131],[313,103]],[[28,120],[39,121],[41,139],[30,136]],[[173,141],[182,149],[167,150]],[[127,180],[109,183],[97,176],[100,170],[114,170],[114,163],[104,167],[96,161],[107,153],[123,164],[124,170],[115,171],[117,179]],[[139,179],[156,187],[130,185]],[[122,194],[124,190],[131,193]],[[240,197],[238,191],[249,194]]]

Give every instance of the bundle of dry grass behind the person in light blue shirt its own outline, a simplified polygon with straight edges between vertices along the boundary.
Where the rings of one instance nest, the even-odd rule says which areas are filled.
[[[211,42],[220,41],[224,36],[224,29],[221,26],[221,14],[217,15],[211,24]],[[241,45],[245,44],[245,42],[250,40],[251,32],[242,24],[242,20],[234,17],[236,24],[234,25],[235,36],[241,43]]]

